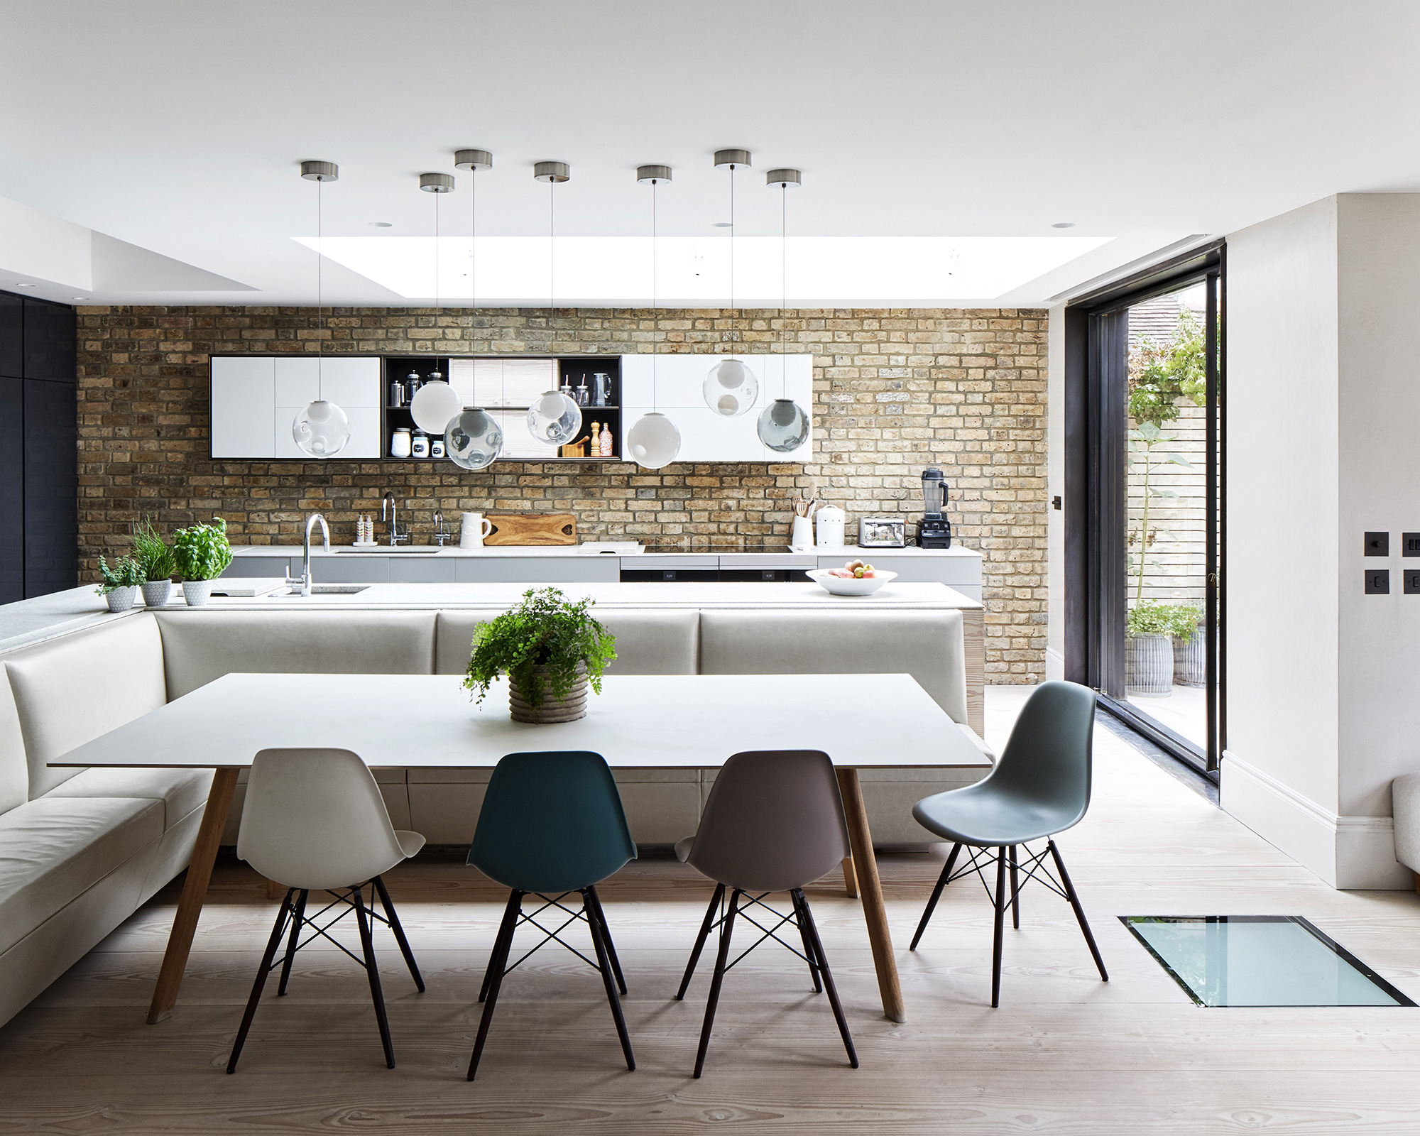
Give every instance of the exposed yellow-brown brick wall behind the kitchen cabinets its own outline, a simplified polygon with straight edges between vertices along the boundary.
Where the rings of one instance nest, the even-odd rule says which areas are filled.
[[[792,346],[814,354],[815,463],[453,464],[213,462],[207,355],[317,349],[312,308],[80,308],[80,564],[122,550],[152,513],[165,531],[217,513],[234,542],[293,542],[325,513],[349,541],[389,488],[432,513],[565,511],[585,538],[659,548],[787,542],[790,498],[815,477],[858,517],[920,513],[920,474],[951,487],[963,544],[985,557],[987,680],[1034,682],[1045,652],[1045,312],[1041,310],[791,311]],[[331,354],[586,355],[777,349],[772,310],[660,311],[334,308]],[[909,532],[912,531],[909,525]]]

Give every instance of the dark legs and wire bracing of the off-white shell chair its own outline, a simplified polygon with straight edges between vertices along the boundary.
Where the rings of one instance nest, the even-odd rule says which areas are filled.
[[[383,913],[375,910],[373,895],[371,896],[372,902],[365,903],[364,889],[366,888],[371,888],[373,893],[379,895],[379,905],[383,909]],[[389,899],[389,890],[385,888],[385,880],[379,876],[373,876],[364,883],[356,883],[346,889],[327,890],[327,895],[334,896],[334,899],[321,907],[321,910],[315,914],[307,914],[305,912],[310,895],[310,889],[287,888],[285,890],[285,897],[281,900],[281,907],[275,914],[275,924],[271,927],[271,939],[267,940],[266,953],[261,956],[261,967],[257,970],[256,981],[251,985],[251,997],[247,998],[247,1008],[241,1015],[241,1027],[237,1030],[237,1038],[231,1044],[231,1056],[227,1059],[229,1074],[234,1074],[237,1071],[237,1058],[241,1056],[241,1047],[246,1045],[247,1034],[251,1030],[253,1020],[256,1018],[257,1003],[261,1001],[261,991],[266,988],[267,976],[277,967],[281,967],[281,981],[277,985],[277,995],[280,997],[285,994],[287,983],[291,980],[291,964],[295,961],[295,953],[302,947],[308,947],[317,939],[325,939],[325,941],[354,958],[365,970],[365,974],[369,977],[371,1001],[375,1004],[375,1021],[379,1025],[379,1041],[385,1049],[385,1064],[390,1069],[395,1068],[395,1047],[389,1037],[389,1018],[385,1014],[385,994],[381,990],[379,967],[375,961],[375,937],[372,932],[376,920],[393,932],[395,941],[399,944],[399,951],[405,956],[405,964],[409,967],[409,974],[415,980],[415,985],[420,994],[425,993],[425,980],[419,973],[419,964],[415,961],[415,953],[409,949],[409,940],[405,937],[405,929],[399,923],[399,914],[395,912],[395,905]],[[317,923],[317,920],[322,919],[332,909],[338,909],[332,919],[324,924]],[[355,923],[359,927],[361,954],[355,954],[329,933],[331,927],[352,912],[355,914]],[[275,953],[281,946],[281,936],[285,933],[288,923],[291,930],[285,943],[285,954],[280,961],[275,961]],[[311,934],[304,940],[301,939],[302,929],[311,932]]]

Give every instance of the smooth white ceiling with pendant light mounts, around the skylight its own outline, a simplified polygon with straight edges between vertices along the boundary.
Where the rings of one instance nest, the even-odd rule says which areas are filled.
[[[459,146],[494,153],[479,176],[480,234],[525,239],[528,256],[545,250],[540,159],[572,166],[559,236],[643,239],[649,190],[633,170],[663,162],[674,180],[657,192],[659,231],[721,240],[721,146],[754,153],[736,179],[741,237],[778,236],[764,170],[787,165],[804,170],[790,233],[809,244],[1091,239],[1014,275],[984,264],[990,294],[924,274],[900,304],[1038,304],[1189,234],[1336,192],[1420,189],[1411,0],[0,0],[0,197],[179,261],[165,273],[106,246],[108,267],[80,288],[101,301],[312,302],[314,257],[295,240],[315,231],[304,158],[339,163],[325,234],[346,243],[429,236],[433,197],[416,178],[452,172]],[[457,178],[440,230],[466,239]],[[6,261],[6,236],[0,288],[78,294],[75,273]],[[351,248],[351,263],[371,261]],[[569,278],[558,302],[649,295],[625,266],[612,275],[601,294]],[[855,284],[872,275],[821,274],[791,302],[885,302]],[[327,302],[422,300],[392,280],[331,264]],[[223,291],[229,281],[248,290]],[[525,290],[494,298],[545,302]]]

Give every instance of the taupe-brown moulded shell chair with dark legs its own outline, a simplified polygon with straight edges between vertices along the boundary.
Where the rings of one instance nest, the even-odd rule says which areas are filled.
[[[808,963],[814,993],[828,993],[848,1064],[858,1068],[858,1054],[838,1001],[828,956],[804,897],[804,885],[838,868],[848,853],[843,801],[828,754],[818,750],[751,750],[731,755],[716,774],[696,835],[676,845],[676,855],[683,862],[716,882],[686,976],[676,991],[677,1001],[686,997],[706,939],[719,929],[714,974],[700,1028],[700,1049],[696,1052],[696,1076],[704,1069],[726,971],[765,939],[772,939]],[[724,906],[726,890],[730,892],[728,907]],[[788,914],[764,902],[771,892],[790,893],[792,910]],[[737,919],[753,924],[761,934],[731,963],[730,940]],[[778,930],[785,924],[797,927],[802,951],[780,939]]]

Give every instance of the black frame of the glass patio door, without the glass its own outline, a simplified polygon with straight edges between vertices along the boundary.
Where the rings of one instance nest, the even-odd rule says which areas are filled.
[[[1100,690],[1103,709],[1186,764],[1217,780],[1227,747],[1225,660],[1225,423],[1227,390],[1227,246],[1218,240],[1072,300],[1065,307],[1065,677]],[[1214,530],[1206,541],[1204,616],[1214,632],[1207,653],[1208,737],[1206,751],[1153,721],[1109,689],[1123,684],[1123,640],[1106,633],[1127,604],[1120,541],[1127,528],[1125,426],[1127,373],[1119,338],[1127,335],[1127,308],[1203,281],[1206,312],[1207,403],[1210,429],[1206,494]]]

